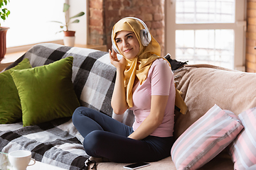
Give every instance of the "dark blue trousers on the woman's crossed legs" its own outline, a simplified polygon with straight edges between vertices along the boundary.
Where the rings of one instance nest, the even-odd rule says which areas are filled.
[[[128,137],[134,132],[131,127],[90,108],[77,108],[73,123],[85,137],[85,152],[92,157],[112,162],[155,162],[171,155],[173,137],[149,135],[144,140],[133,140]]]

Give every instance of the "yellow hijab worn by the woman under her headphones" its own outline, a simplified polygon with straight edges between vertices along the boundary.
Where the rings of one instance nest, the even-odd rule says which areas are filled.
[[[134,59],[128,60],[124,55],[122,55],[127,61],[124,70],[124,89],[126,91],[127,104],[129,108],[133,107],[132,88],[134,86],[135,77],[139,79],[140,84],[143,84],[148,75],[149,68],[152,62],[159,58],[166,60],[164,57],[159,57],[161,55],[161,47],[159,43],[153,38],[153,36],[151,36],[151,42],[149,43],[149,45],[142,45],[142,39],[140,37],[140,31],[142,29],[144,29],[142,23],[134,18],[123,18],[120,21],[118,21],[112,29],[112,40],[116,47],[117,43],[114,39],[117,33],[122,30],[134,32],[134,34],[137,37],[137,40],[139,41],[139,53],[136,57],[134,57]],[[117,50],[119,49],[117,48]],[[119,54],[121,54],[120,51]],[[177,94],[180,95],[176,92],[176,95]],[[182,98],[181,100],[183,101]]]

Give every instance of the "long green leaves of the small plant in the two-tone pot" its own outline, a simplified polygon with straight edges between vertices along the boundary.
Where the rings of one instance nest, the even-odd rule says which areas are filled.
[[[1,1],[1,0],[0,0]],[[64,3],[64,5],[63,5],[63,12],[65,13],[65,23],[62,23],[62,22],[60,22],[60,21],[52,21],[52,22],[55,22],[55,23],[60,23],[61,25],[60,25],[60,28],[61,29],[64,29],[65,28],[65,30],[60,30],[60,32],[62,32],[62,31],[68,31],[69,29],[68,29],[68,26],[70,26],[70,24],[71,23],[79,23],[79,20],[78,19],[76,19],[75,21],[71,21],[71,19],[73,19],[73,18],[78,18],[78,17],[80,17],[80,16],[83,16],[83,15],[85,15],[85,13],[84,12],[80,12],[80,13],[78,13],[78,14],[76,14],[75,16],[72,16],[72,17],[68,17],[68,9],[70,8],[70,5],[69,4],[66,4],[66,3]],[[59,32],[58,32],[59,33]]]

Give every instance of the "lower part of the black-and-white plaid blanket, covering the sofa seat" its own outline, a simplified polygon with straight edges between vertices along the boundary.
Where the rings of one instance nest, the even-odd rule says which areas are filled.
[[[30,150],[36,161],[64,169],[80,169],[88,158],[80,142],[82,136],[70,118],[24,128],[22,123],[0,127],[1,152]]]

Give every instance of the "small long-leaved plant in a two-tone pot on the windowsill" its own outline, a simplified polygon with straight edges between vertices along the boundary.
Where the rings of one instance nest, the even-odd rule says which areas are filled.
[[[85,15],[84,12],[80,12],[76,14],[75,16],[68,17],[68,9],[70,8],[69,4],[64,3],[63,5],[63,12],[65,13],[65,23],[62,23],[60,21],[52,21],[55,23],[60,23],[60,28],[63,30],[60,30],[60,32],[64,33],[64,45],[73,47],[75,45],[75,31],[74,30],[69,30],[68,26],[70,26],[71,23],[79,23],[79,20],[76,19],[75,21],[71,21],[73,18],[78,18],[80,16]],[[60,33],[58,32],[58,33]]]

